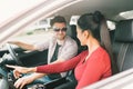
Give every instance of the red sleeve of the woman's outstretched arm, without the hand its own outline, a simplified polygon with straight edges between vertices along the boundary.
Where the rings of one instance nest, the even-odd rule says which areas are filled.
[[[64,71],[75,68],[76,65],[80,62],[80,60],[81,60],[81,57],[76,56],[76,57],[69,59],[66,61],[63,61],[63,62],[39,66],[39,67],[37,67],[37,72],[43,72],[43,73],[64,72]]]

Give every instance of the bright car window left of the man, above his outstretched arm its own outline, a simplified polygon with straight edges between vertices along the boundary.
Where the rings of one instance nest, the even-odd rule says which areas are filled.
[[[47,40],[53,34],[53,31],[50,27],[50,19],[51,18],[47,18],[33,22],[32,24],[28,26],[27,28],[14,34],[12,38],[10,38],[9,41],[18,40],[34,43],[38,41]]]

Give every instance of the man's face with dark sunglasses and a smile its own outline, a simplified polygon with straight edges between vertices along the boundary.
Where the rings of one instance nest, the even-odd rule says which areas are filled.
[[[55,22],[53,24],[53,31],[57,36],[57,39],[63,40],[66,36],[66,24],[64,22]]]

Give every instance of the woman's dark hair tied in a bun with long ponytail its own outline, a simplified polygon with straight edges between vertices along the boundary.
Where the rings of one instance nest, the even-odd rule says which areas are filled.
[[[115,62],[113,61],[111,39],[104,16],[100,11],[94,13],[84,13],[78,20],[78,26],[82,31],[90,30],[94,38],[96,38],[101,46],[109,52],[112,62],[112,71],[115,73]]]

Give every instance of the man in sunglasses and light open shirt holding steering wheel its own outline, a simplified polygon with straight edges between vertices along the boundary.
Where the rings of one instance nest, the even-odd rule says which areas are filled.
[[[65,61],[74,57],[78,52],[76,42],[66,36],[66,21],[63,17],[57,16],[51,20],[51,27],[54,31],[54,37],[51,37],[50,40],[42,43],[28,44],[20,41],[10,41],[10,43],[17,44],[25,50],[44,50],[49,49],[48,52],[48,63],[55,63]],[[31,82],[48,82],[52,79],[60,78],[65,73],[47,76],[47,73],[31,73],[19,78],[14,86],[16,88],[22,88],[24,85]],[[43,77],[43,78],[42,78]]]

